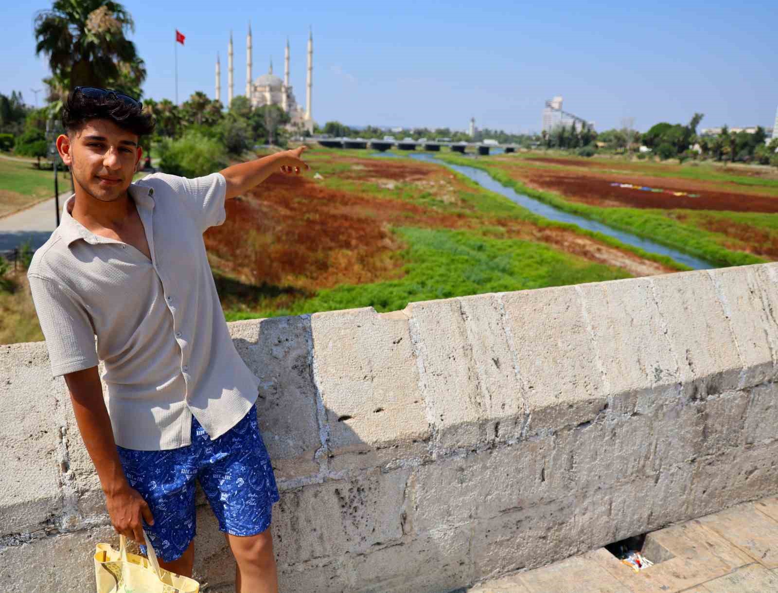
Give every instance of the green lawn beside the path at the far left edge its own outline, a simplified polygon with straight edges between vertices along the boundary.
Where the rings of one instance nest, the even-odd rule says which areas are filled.
[[[58,173],[59,191],[68,191],[70,178]],[[33,163],[0,159],[0,216],[44,198],[54,197],[54,173],[36,169]]]

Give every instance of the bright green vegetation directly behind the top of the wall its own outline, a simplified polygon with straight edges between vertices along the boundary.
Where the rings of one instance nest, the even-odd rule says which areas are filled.
[[[321,290],[286,310],[227,311],[227,321],[375,307],[398,311],[413,301],[629,278],[624,270],[592,263],[545,244],[486,237],[478,231],[395,230],[408,245],[405,276]]]

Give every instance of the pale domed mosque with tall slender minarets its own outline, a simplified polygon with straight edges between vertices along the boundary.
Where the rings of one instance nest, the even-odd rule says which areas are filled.
[[[251,76],[251,23],[246,37],[246,97],[251,107],[278,105],[289,114],[289,128],[302,132],[314,132],[314,119],[310,111],[311,90],[314,75],[314,34],[308,34],[308,72],[306,80],[305,109],[297,104],[292,86],[289,84],[289,40],[286,40],[284,55],[284,79],[273,74],[273,61],[267,74],[252,80]],[[216,100],[222,97],[222,77],[219,57],[216,58]],[[230,33],[230,45],[227,50],[227,107],[233,103],[233,34]]]

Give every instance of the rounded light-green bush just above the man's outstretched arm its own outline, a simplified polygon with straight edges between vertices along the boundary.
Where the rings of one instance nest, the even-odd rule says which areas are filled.
[[[186,132],[180,139],[159,143],[159,168],[182,177],[202,177],[223,169],[227,154],[223,144],[200,132]]]

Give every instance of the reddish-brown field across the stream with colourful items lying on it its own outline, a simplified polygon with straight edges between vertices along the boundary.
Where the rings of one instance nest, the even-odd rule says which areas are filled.
[[[533,188],[557,191],[575,202],[601,207],[628,206],[629,208],[730,210],[734,212],[778,212],[778,196],[753,195],[741,191],[713,190],[712,184],[702,181],[647,177],[635,174],[599,174],[564,170],[513,168],[511,174],[520,177]],[[633,184],[639,187],[682,191],[689,195],[672,195],[643,191],[640,188],[622,188],[612,183]],[[721,184],[717,184],[720,188]]]

